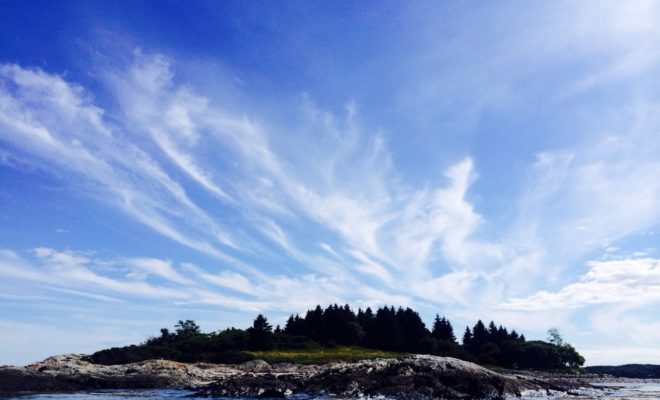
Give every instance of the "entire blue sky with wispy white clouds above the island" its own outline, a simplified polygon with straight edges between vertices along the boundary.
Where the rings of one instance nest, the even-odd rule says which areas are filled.
[[[658,7],[2,1],[0,363],[333,302],[660,363]]]

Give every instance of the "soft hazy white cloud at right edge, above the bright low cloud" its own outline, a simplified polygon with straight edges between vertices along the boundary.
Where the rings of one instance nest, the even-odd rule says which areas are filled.
[[[606,128],[596,124],[574,145],[536,155],[502,241],[513,295],[570,280],[593,252],[618,249],[617,241],[660,221],[660,118],[651,103],[621,109]]]

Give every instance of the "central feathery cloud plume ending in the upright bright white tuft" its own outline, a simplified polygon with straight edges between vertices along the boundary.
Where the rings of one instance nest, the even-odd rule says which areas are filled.
[[[221,174],[212,172],[215,168],[202,150],[204,146],[229,150],[214,156],[221,165],[248,165],[249,171],[232,170],[232,176],[225,174],[221,178],[223,186],[234,192],[232,197],[242,199],[235,211],[242,213],[243,218],[258,227],[256,230],[294,260],[323,273],[350,276],[351,271],[359,271],[391,284],[391,276],[402,275],[404,267],[408,270],[404,274],[406,279],[427,279],[445,272],[428,268],[434,260],[444,258],[456,268],[471,265],[478,269],[477,261],[497,257],[497,246],[470,239],[481,221],[465,200],[476,177],[471,159],[464,159],[446,171],[446,188],[417,191],[405,187],[393,170],[382,136],[370,137],[364,131],[355,107],[348,107],[342,119],[319,109],[309,98],[303,104],[303,129],[287,132],[296,138],[302,151],[278,153],[271,140],[280,135],[279,128],[266,129],[265,124],[244,116],[232,117],[210,99],[195,94],[192,88],[178,87],[169,63],[160,56],[154,57],[138,55],[137,67],[131,67],[132,83],[111,82],[128,118],[136,126],[149,130],[160,147],[163,140],[176,140],[178,149],[188,149],[188,156],[194,155],[196,163],[205,165],[216,177]],[[145,63],[157,66],[152,68]],[[156,74],[158,79],[154,77]],[[144,89],[142,81],[158,84],[149,84]],[[180,100],[181,96],[185,100]],[[178,128],[154,128],[170,124],[169,117],[163,117],[160,112],[168,107],[178,110],[177,118],[183,113],[186,121],[190,119],[185,129],[173,122],[172,126]],[[145,115],[151,115],[151,122],[143,119],[147,118]],[[310,132],[320,132],[323,138],[318,140],[316,134],[312,138]],[[331,152],[325,143],[331,144]],[[258,198],[248,195],[255,188],[261,193]],[[282,214],[281,210],[286,211]],[[294,217],[289,210],[308,221],[298,229],[285,231],[278,220],[290,222]],[[307,223],[316,227],[310,228]],[[290,229],[291,225],[286,225]],[[300,222],[294,225],[299,226]],[[294,238],[306,235],[302,230],[319,228],[338,235],[338,245],[333,246],[333,251],[338,253],[330,254],[334,256],[332,259],[294,245]],[[268,254],[260,245],[251,248],[262,255]],[[480,251],[475,251],[477,248]],[[356,254],[360,256],[355,258]],[[342,267],[338,260],[353,265]]]

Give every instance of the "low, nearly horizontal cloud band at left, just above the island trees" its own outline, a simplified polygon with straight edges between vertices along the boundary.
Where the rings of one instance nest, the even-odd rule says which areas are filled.
[[[90,252],[37,248],[29,254],[3,250],[0,276],[32,283],[50,292],[98,301],[140,298],[183,304],[224,306],[244,311],[287,311],[310,307],[318,299],[339,301],[348,291],[341,280],[303,275],[250,279],[237,272],[205,272],[189,263],[154,258],[99,258]],[[29,286],[29,285],[28,285]],[[218,290],[222,287],[224,290]],[[322,290],[319,293],[318,290]]]

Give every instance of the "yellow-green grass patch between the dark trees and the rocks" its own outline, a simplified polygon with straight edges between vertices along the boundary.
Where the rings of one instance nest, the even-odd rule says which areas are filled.
[[[270,364],[283,362],[295,364],[325,364],[336,361],[354,362],[373,358],[400,357],[404,355],[404,353],[348,346],[299,350],[247,351],[246,353]]]

